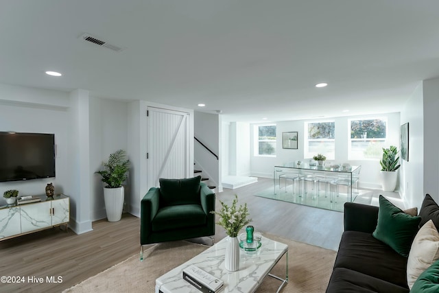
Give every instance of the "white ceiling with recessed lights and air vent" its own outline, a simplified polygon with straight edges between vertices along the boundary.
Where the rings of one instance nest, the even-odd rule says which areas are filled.
[[[5,84],[276,121],[399,112],[421,80],[439,77],[437,0],[1,0],[0,7]],[[84,33],[125,49],[86,43]],[[316,89],[318,82],[329,86]]]

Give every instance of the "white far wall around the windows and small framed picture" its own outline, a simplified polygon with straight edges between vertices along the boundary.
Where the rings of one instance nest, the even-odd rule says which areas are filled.
[[[399,113],[388,113],[379,115],[364,116],[348,116],[335,117],[335,160],[333,163],[351,163],[351,165],[361,165],[360,186],[368,188],[381,188],[379,182],[379,160],[348,160],[348,119],[367,119],[369,117],[387,117],[388,119],[388,145],[396,145],[399,148]],[[327,119],[325,119],[326,121]],[[276,157],[254,156],[254,145],[250,150],[251,155],[251,172],[253,176],[270,177],[273,176],[274,165],[282,165],[283,163],[304,159],[304,135],[305,121],[318,120],[295,120],[295,121],[278,121],[276,122]],[[257,124],[252,124],[252,127]],[[282,132],[298,132],[298,150],[282,148]],[[251,141],[254,140],[253,132],[251,132]],[[305,158],[311,159],[311,158]]]

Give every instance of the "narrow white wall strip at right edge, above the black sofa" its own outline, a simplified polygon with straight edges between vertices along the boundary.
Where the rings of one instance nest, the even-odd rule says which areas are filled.
[[[439,202],[439,78],[423,82],[424,194]],[[419,201],[419,200],[418,200]]]

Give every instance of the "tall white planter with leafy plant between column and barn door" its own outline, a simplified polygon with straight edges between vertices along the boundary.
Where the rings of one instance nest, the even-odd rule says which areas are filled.
[[[117,150],[110,154],[108,162],[104,163],[104,169],[97,171],[102,176],[104,186],[104,201],[108,222],[121,220],[123,210],[124,190],[122,183],[127,178],[130,170],[130,160],[126,159],[124,150]]]

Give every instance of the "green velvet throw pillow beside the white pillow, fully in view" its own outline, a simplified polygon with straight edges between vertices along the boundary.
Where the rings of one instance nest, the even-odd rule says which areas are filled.
[[[393,248],[396,253],[408,257],[419,222],[420,217],[407,215],[384,196],[379,196],[378,224],[372,235]]]

